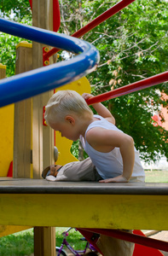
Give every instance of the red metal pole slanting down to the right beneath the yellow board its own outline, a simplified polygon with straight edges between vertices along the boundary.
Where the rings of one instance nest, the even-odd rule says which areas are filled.
[[[115,238],[131,241],[137,244],[141,244],[146,247],[153,247],[155,249],[159,249],[165,252],[168,252],[168,242],[167,241],[160,241],[154,238],[149,238],[146,236],[139,236],[135,234],[130,234],[125,231],[121,230],[101,230],[101,229],[82,229],[86,231],[90,231],[93,233],[98,233],[106,236],[113,236]]]

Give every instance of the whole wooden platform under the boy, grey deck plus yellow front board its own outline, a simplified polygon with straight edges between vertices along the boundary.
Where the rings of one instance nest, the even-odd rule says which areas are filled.
[[[0,224],[168,230],[168,183],[0,179]]]

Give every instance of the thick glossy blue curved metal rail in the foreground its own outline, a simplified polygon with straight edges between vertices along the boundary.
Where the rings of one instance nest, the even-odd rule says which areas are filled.
[[[0,19],[0,31],[78,54],[71,60],[0,80],[0,107],[80,79],[91,73],[100,60],[92,44],[65,34],[4,19]]]

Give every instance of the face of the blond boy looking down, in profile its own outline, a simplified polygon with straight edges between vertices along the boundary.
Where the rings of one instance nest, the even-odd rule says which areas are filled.
[[[80,134],[76,131],[76,126],[71,119],[65,119],[64,121],[51,124],[50,127],[55,131],[61,132],[61,137],[67,137],[72,141],[77,141]]]

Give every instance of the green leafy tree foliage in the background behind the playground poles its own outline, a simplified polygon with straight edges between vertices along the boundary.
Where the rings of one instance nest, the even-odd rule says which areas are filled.
[[[72,35],[116,3],[119,1],[60,0],[59,32]],[[20,0],[1,0],[1,10],[3,17],[11,18],[14,13],[13,19],[19,22],[26,23],[31,18],[28,0],[24,3]],[[136,0],[83,36],[84,40],[96,46],[101,55],[96,71],[87,76],[94,95],[168,69],[167,16],[165,0]],[[11,37],[10,40],[8,44],[5,36],[1,38],[1,43],[8,45],[2,54],[3,62],[9,61],[8,66],[14,60],[9,45],[13,45],[12,40],[15,39]],[[146,161],[155,161],[160,155],[168,158],[168,131],[155,125],[152,119],[154,113],[161,115],[161,105],[167,107],[162,93],[168,93],[167,83],[103,103],[112,111],[119,129],[134,138],[136,148]],[[163,116],[161,118],[164,122]]]

